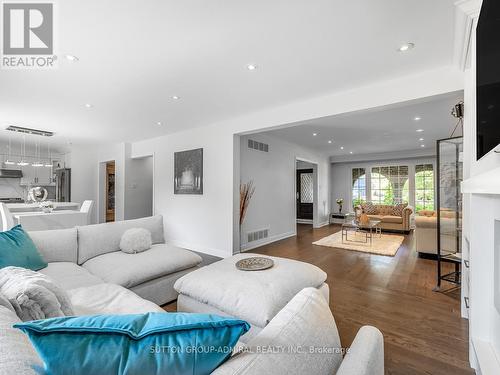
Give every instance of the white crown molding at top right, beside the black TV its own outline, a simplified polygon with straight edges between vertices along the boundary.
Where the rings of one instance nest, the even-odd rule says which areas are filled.
[[[482,0],[459,0],[455,3],[455,43],[453,60],[461,70],[469,67],[470,47]]]

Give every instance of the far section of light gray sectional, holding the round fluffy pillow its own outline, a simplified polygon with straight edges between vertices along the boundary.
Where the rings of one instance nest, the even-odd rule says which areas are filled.
[[[148,229],[151,249],[138,254],[122,252],[120,239],[130,228]],[[175,281],[202,261],[192,251],[165,244],[161,215],[29,235],[48,262],[40,272],[64,289],[118,284],[157,305],[175,300]]]

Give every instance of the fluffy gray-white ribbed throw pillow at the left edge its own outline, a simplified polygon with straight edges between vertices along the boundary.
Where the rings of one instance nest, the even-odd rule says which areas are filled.
[[[0,269],[0,293],[22,321],[73,315],[66,292],[48,276],[26,268]]]

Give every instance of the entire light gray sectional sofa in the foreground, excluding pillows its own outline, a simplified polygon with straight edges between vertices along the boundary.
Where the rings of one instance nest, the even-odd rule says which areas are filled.
[[[134,227],[151,231],[153,248],[139,254],[122,253],[120,237]],[[158,304],[176,298],[174,281],[201,262],[197,254],[164,243],[161,216],[31,232],[30,236],[48,262],[40,272],[67,291],[75,315],[164,312]],[[19,321],[0,298],[0,375],[42,374],[43,363],[29,339],[12,327]],[[327,299],[316,288],[297,293],[239,348],[212,374],[384,374],[380,331],[362,327],[350,348],[342,349]]]

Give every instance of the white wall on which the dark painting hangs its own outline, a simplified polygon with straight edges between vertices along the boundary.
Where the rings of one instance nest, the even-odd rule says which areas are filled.
[[[168,242],[216,256],[233,254],[233,134],[187,130],[132,144],[132,157],[154,154],[155,213]],[[203,195],[174,194],[174,152],[203,148]]]

